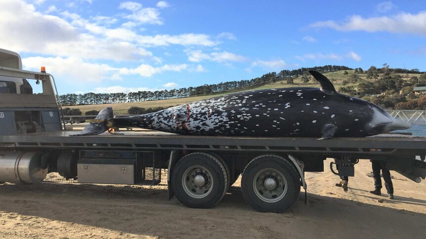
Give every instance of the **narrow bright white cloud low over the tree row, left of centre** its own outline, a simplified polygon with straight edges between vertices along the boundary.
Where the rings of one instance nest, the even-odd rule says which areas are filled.
[[[161,67],[153,67],[148,64],[142,64],[136,68],[120,68],[119,73],[123,75],[129,74],[139,74],[143,77],[150,77],[154,74],[161,73],[163,71],[182,71],[186,69],[188,66],[186,64],[180,65],[164,65]]]

